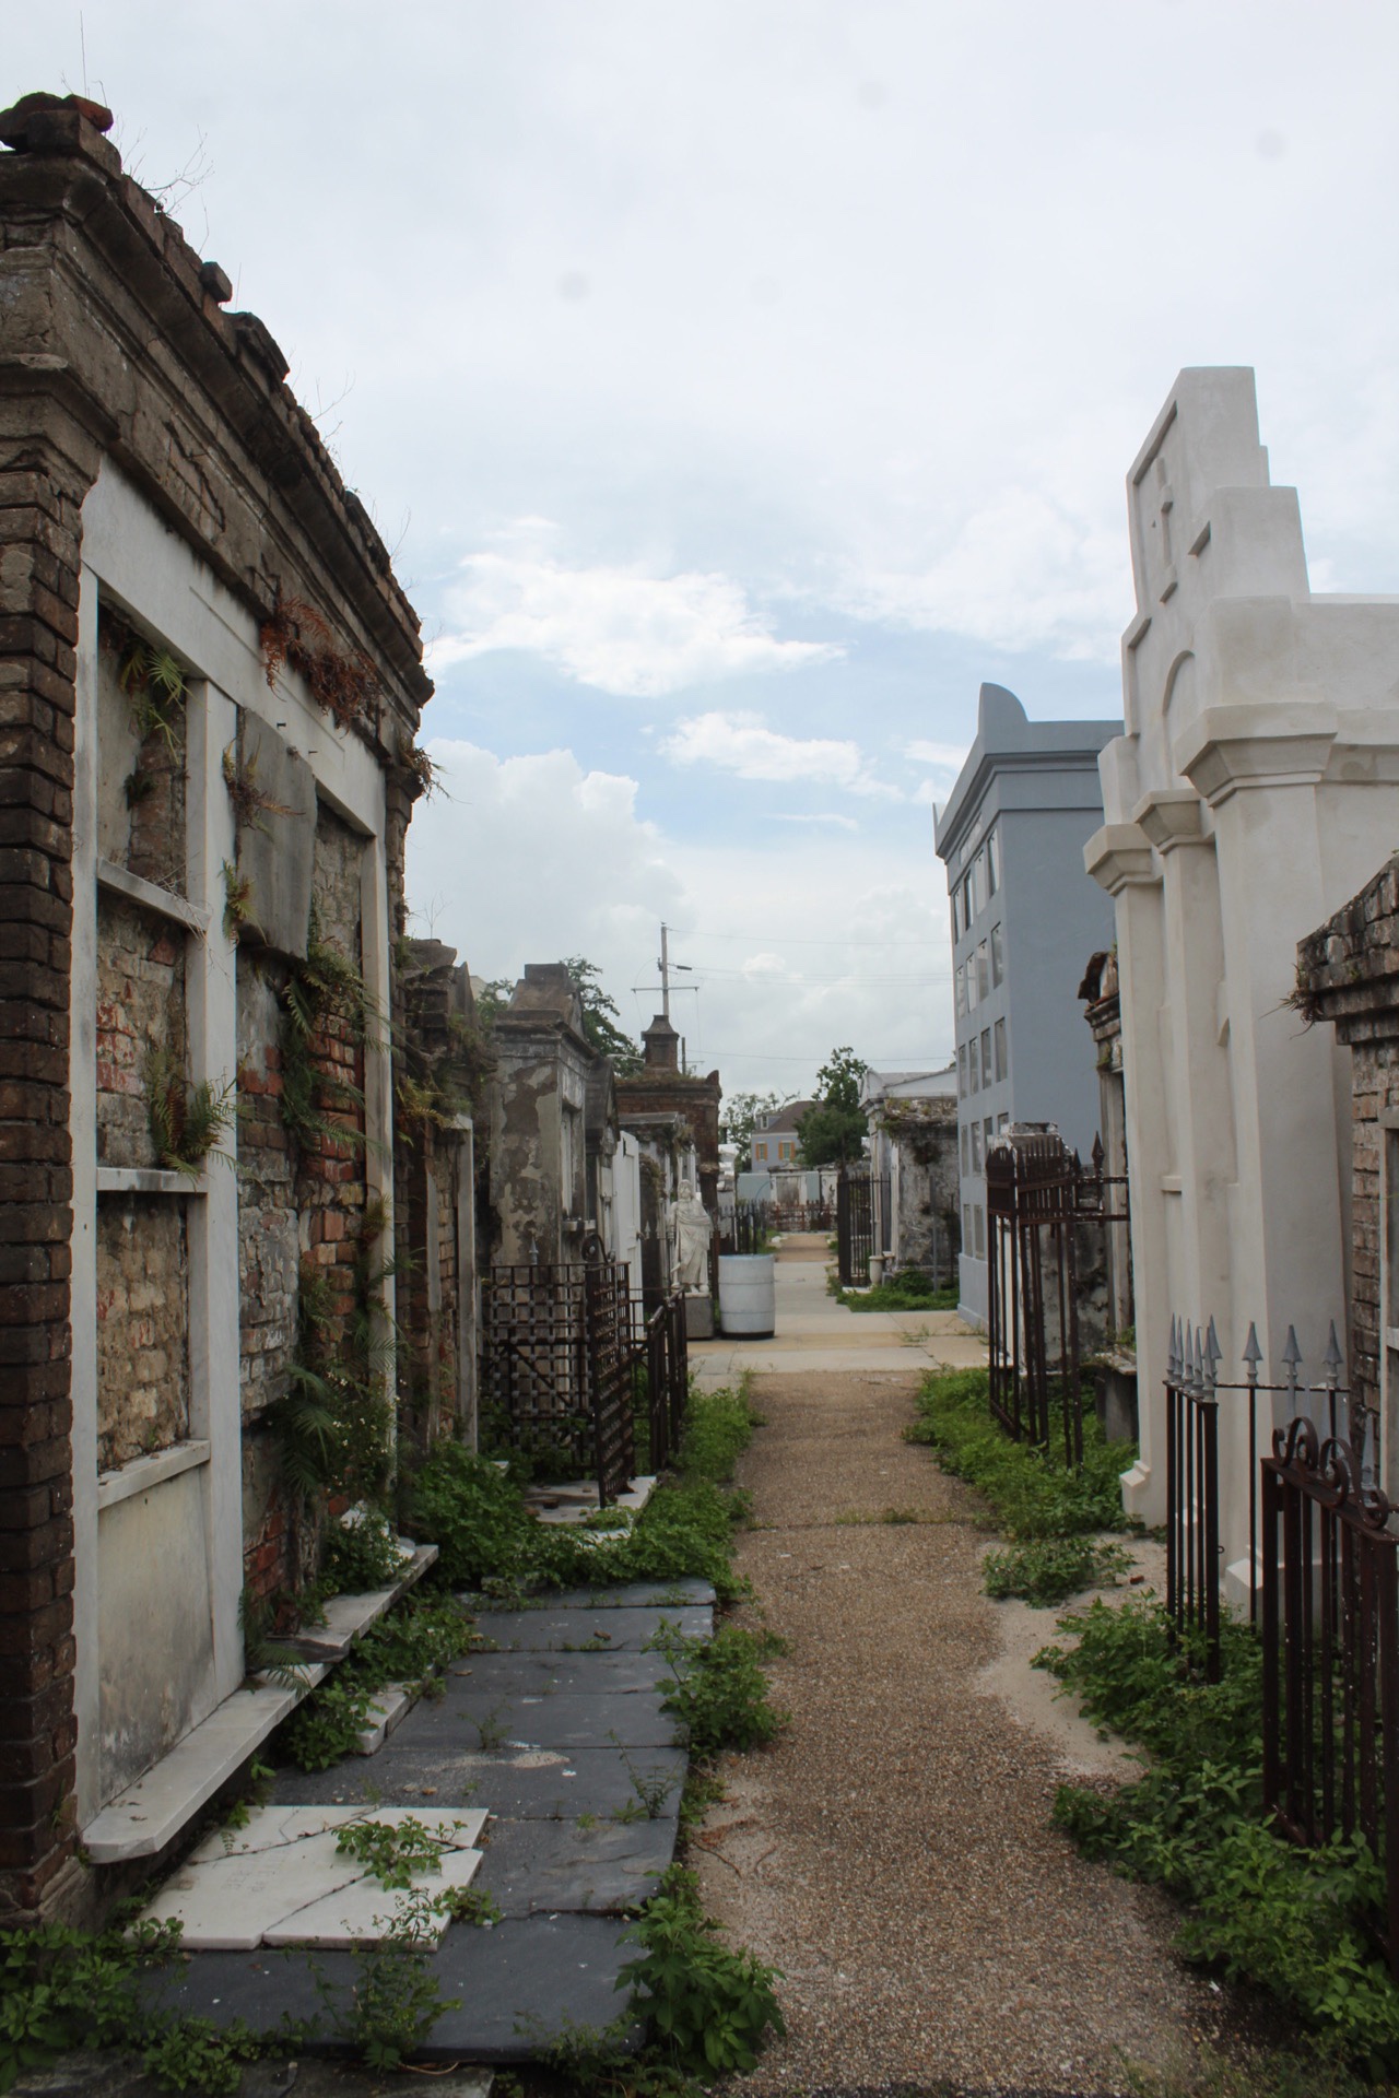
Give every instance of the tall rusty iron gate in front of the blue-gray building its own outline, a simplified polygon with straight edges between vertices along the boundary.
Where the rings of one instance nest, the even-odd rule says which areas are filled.
[[[1082,1462],[1078,1240],[1126,1221],[1126,1179],[1103,1173],[1101,1139],[1082,1166],[1057,1129],[1013,1127],[986,1152],[990,1408],[1015,1441],[1059,1433]]]

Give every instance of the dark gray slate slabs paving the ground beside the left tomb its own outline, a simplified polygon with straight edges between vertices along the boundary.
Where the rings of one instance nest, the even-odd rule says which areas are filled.
[[[369,1758],[329,1771],[279,1769],[279,1804],[485,1808],[478,1888],[493,1928],[451,1924],[428,1957],[457,2010],[436,2020],[424,2062],[524,2062],[568,2027],[625,2008],[627,1913],[657,1890],[675,1853],[686,1752],[663,1712],[671,1666],[652,1641],[671,1626],[709,1636],[703,1582],[577,1590],[543,1605],[476,1611],[491,1651],[464,1655],[440,1699],[422,1699]],[[392,1901],[394,1897],[386,1897]],[[195,1953],[147,1976],[151,2004],[216,2025],[319,2020],[313,2048],[344,2029],[357,1955]]]

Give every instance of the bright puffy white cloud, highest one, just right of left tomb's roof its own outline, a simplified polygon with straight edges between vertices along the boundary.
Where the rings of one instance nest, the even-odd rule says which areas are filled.
[[[579,684],[659,699],[694,684],[805,669],[843,650],[778,640],[726,575],[644,575],[566,566],[541,518],[518,520],[499,552],[468,554],[447,594],[451,629],[428,650],[443,673],[493,648],[545,657]]]

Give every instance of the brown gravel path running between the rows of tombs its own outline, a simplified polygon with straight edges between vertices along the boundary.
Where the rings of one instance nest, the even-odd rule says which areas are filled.
[[[1124,2056],[1179,2058],[1225,2004],[1170,1955],[1164,1899],[1049,1827],[1059,1748],[977,1680],[1007,1605],[980,1590],[971,1494],[900,1437],[914,1391],[755,1385],[738,1563],[791,1641],[793,1720],[726,1760],[692,1853],[734,1943],[787,1974],[789,2037],[749,2088],[1122,2092]]]

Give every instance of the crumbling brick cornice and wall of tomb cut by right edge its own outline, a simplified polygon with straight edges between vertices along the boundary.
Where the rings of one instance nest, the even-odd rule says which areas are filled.
[[[1298,944],[1294,1003],[1309,1024],[1330,1020],[1351,1049],[1351,1383],[1374,1406],[1382,1385],[1384,1143],[1399,1143],[1386,1129],[1399,1120],[1399,856]],[[1391,1257],[1399,1263],[1399,1246]]]

